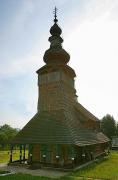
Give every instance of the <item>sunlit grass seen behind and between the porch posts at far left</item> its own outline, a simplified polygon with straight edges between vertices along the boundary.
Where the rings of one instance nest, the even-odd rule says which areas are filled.
[[[26,157],[28,152],[26,151]],[[13,151],[13,160],[18,160],[20,156],[19,150]],[[10,151],[4,150],[0,151],[0,163],[8,163],[10,159]]]

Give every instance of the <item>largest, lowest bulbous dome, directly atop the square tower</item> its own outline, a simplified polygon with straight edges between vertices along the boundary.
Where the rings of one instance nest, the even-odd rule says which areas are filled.
[[[44,54],[44,62],[47,64],[67,64],[70,55],[64,49],[48,49]]]

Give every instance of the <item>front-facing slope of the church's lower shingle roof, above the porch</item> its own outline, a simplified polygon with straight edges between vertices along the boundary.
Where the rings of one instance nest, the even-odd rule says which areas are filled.
[[[59,113],[56,115],[46,111],[37,113],[19,132],[13,143],[72,143],[69,129],[58,117],[60,117]]]

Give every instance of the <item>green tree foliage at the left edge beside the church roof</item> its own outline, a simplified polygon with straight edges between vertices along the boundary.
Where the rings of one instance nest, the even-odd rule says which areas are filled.
[[[0,145],[2,146],[2,148],[7,146],[17,133],[18,133],[18,129],[12,128],[8,124],[1,126]]]

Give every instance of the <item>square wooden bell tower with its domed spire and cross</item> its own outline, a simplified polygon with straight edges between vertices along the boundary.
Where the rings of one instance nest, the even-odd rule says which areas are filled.
[[[57,9],[54,11],[54,24],[50,28],[50,48],[45,51],[46,63],[38,73],[38,111],[53,111],[72,108],[77,101],[74,88],[74,70],[68,66],[70,55],[63,49],[62,30],[58,25]]]

